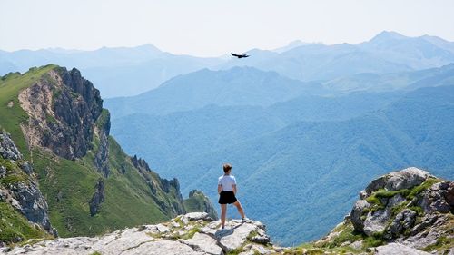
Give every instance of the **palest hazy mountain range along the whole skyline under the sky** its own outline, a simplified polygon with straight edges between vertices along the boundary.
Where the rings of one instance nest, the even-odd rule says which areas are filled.
[[[77,67],[104,98],[145,93],[179,75],[210,68],[251,66],[303,82],[361,73],[396,73],[440,67],[454,61],[454,43],[437,36],[408,37],[384,31],[361,44],[306,44],[295,41],[274,50],[252,49],[251,58],[201,58],[165,53],[151,44],[94,51],[44,49],[0,51],[0,75],[30,66]],[[229,54],[229,53],[226,53]]]

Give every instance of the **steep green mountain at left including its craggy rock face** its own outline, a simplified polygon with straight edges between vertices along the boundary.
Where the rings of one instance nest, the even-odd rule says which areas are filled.
[[[94,236],[187,211],[178,180],[160,178],[109,135],[110,114],[99,91],[75,68],[47,65],[1,77],[0,130],[11,132],[23,152],[18,158],[5,150],[8,157],[33,172],[26,185],[7,174],[3,181],[26,198],[25,217],[49,233],[50,222],[64,237]],[[27,189],[41,201],[31,202]],[[48,213],[33,216],[35,208]]]

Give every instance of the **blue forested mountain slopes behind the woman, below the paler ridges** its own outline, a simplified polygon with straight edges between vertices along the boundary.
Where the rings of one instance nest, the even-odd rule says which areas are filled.
[[[218,83],[223,75],[217,74],[238,70],[203,72],[213,73],[204,76],[210,84],[222,84],[224,89],[216,91],[223,92],[231,84]],[[223,162],[232,162],[249,215],[265,222],[276,240],[294,244],[330,230],[341,221],[341,211],[350,207],[352,194],[384,171],[417,165],[453,177],[449,156],[454,137],[453,71],[449,64],[373,74],[370,83],[366,74],[355,74],[330,83],[309,83],[317,90],[291,93],[290,99],[272,104],[205,100],[184,110],[176,100],[169,104],[173,108],[162,110],[164,103],[154,107],[152,95],[161,93],[158,88],[141,95],[143,104],[127,102],[141,102],[141,96],[123,98],[124,105],[139,110],[114,118],[113,134],[126,152],[140,153],[163,176],[178,176],[183,191],[202,189],[212,201],[217,200],[212,180],[222,174]],[[242,72],[259,71],[242,67]],[[235,83],[242,77],[232,76]],[[185,75],[178,78],[179,83],[169,81],[174,85],[165,96],[169,101],[182,98],[186,103],[179,94],[189,93],[182,93],[181,86],[192,86],[194,94],[207,92],[192,77],[187,82]],[[244,82],[243,88],[250,94],[262,93],[254,91],[251,82]],[[108,100],[107,107],[111,103],[115,101]],[[304,235],[296,234],[301,232]]]

